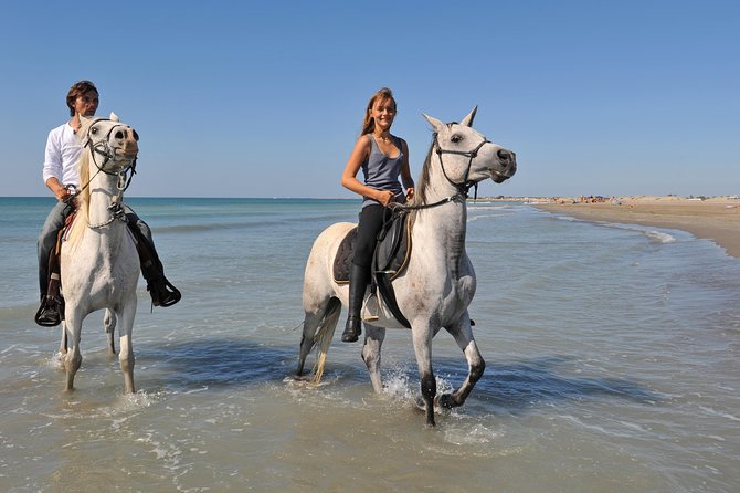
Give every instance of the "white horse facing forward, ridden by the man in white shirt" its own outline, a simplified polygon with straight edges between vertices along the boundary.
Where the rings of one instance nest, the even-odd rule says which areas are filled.
[[[78,134],[83,153],[78,162],[77,217],[61,251],[65,319],[60,349],[66,369],[66,390],[73,389],[74,376],[82,364],[82,323],[89,313],[105,308],[108,352],[115,353],[113,333],[118,319],[124,389],[134,392],[131,331],[140,268],[136,244],[126,225],[123,199],[139,150],[138,135],[113,113],[110,118],[83,119]]]

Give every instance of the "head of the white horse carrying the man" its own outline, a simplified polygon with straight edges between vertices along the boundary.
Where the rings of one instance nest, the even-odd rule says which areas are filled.
[[[139,153],[139,135],[121,124],[115,113],[109,118],[81,118],[83,148],[89,148],[91,160],[107,174],[130,168]]]

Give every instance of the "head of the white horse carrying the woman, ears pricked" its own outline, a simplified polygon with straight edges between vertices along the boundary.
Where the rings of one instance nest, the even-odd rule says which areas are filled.
[[[461,123],[451,124],[424,115],[435,133],[431,154],[436,154],[445,178],[458,190],[467,190],[486,178],[500,183],[517,171],[512,151],[472,128],[476,111],[477,106]]]

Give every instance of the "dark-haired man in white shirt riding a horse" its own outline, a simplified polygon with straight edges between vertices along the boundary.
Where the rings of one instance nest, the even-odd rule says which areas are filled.
[[[36,314],[36,323],[43,326],[57,325],[62,319],[62,303],[49,290],[49,259],[56,245],[56,237],[64,225],[64,221],[74,208],[71,203],[71,188],[80,188],[77,160],[82,147],[77,138],[77,130],[82,125],[81,116],[92,117],[97,111],[99,99],[95,85],[89,81],[75,83],[67,93],[66,105],[70,108],[71,120],[60,125],[49,133],[44,155],[44,183],[59,200],[51,210],[39,234],[39,289],[41,291],[41,307]],[[82,183],[84,186],[85,183]],[[125,206],[129,228],[137,237],[142,237],[146,244],[145,252],[139,250],[141,273],[147,281],[147,290],[155,306],[170,306],[180,301],[180,292],[165,277],[165,270],[155,250],[151,231],[146,222]]]

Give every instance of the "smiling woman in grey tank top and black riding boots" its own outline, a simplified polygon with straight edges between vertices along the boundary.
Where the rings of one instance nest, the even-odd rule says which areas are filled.
[[[395,113],[391,90],[383,87],[372,95],[364,114],[361,136],[341,176],[342,187],[364,198],[349,277],[349,316],[341,335],[345,343],[353,343],[362,334],[362,298],[370,281],[376,237],[390,217],[389,206],[411,199],[414,193],[414,180],[409,169],[409,146],[402,138],[391,135]],[[364,183],[357,179],[360,168]],[[399,182],[399,176],[403,186]]]

